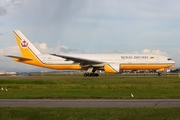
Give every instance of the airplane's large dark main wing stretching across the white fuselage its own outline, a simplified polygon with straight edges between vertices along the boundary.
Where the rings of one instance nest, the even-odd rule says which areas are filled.
[[[72,57],[72,56],[66,56],[66,55],[57,55],[57,54],[51,54],[51,55],[64,58],[64,59],[66,59],[66,61],[74,61],[74,63],[80,63],[80,65],[100,65],[100,64],[103,64],[103,62],[97,61],[97,60],[90,60],[90,59],[84,59],[84,58]]]

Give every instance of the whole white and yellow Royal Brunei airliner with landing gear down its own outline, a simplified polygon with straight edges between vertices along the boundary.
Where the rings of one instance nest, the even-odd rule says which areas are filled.
[[[155,54],[42,54],[20,30],[14,30],[22,56],[7,55],[16,62],[54,70],[86,70],[84,77],[105,73],[120,73],[122,70],[159,70],[175,64],[166,56]]]

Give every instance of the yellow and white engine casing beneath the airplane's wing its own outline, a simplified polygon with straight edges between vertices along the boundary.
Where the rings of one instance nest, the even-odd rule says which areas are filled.
[[[120,64],[116,63],[108,63],[104,65],[104,71],[106,73],[119,73],[120,71]]]

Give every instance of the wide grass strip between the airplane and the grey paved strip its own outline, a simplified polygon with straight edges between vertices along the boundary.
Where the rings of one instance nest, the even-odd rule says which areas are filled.
[[[174,75],[157,77],[118,77],[81,75],[0,77],[0,99],[135,99],[180,98],[180,78]]]

